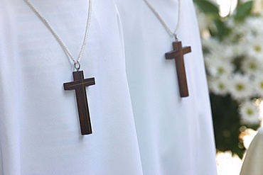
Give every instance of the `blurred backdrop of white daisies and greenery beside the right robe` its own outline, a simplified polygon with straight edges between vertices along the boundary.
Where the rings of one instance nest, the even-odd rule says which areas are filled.
[[[263,0],[194,0],[202,38],[218,175],[239,174],[263,115]]]

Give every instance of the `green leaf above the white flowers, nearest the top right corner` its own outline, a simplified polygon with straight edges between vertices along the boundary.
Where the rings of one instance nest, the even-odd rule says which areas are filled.
[[[237,6],[235,19],[239,21],[244,20],[249,15],[249,13],[251,13],[252,6],[253,6],[253,1],[247,1],[244,4]]]

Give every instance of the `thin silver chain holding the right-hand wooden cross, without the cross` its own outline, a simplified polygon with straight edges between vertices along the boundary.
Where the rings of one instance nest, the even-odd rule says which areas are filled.
[[[144,0],[144,1],[147,4],[147,6],[149,6],[149,9],[151,9],[154,15],[159,19],[163,27],[166,28],[169,35],[175,36],[176,40],[178,40],[177,33],[178,33],[179,25],[180,25],[181,0],[178,0],[178,19],[177,19],[176,29],[174,31],[168,27],[167,23],[163,20],[163,18],[161,18],[160,14],[156,11],[156,9],[154,9],[154,6],[152,6],[148,0]]]

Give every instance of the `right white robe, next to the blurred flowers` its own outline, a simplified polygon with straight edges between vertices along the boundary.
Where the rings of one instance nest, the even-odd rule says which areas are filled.
[[[149,0],[168,26],[178,23],[177,0]],[[189,95],[178,91],[169,35],[143,0],[117,0],[124,30],[127,77],[144,174],[217,174],[215,141],[198,23],[192,0],[181,0],[178,39]]]

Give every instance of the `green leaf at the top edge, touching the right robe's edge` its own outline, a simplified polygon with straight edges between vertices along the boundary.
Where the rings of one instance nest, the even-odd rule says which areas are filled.
[[[200,8],[204,13],[215,13],[219,14],[218,6],[208,0],[193,0],[193,2]]]

